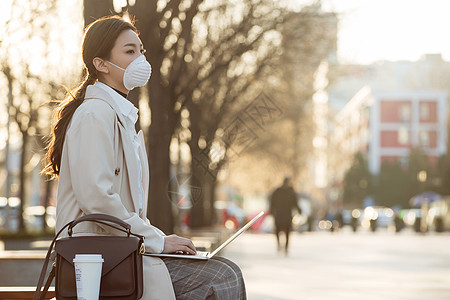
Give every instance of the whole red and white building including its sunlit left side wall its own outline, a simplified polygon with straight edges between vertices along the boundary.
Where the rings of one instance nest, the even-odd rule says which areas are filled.
[[[362,88],[335,117],[329,154],[333,181],[343,179],[358,151],[367,154],[372,174],[383,161],[406,164],[412,148],[422,148],[435,163],[447,152],[447,97],[440,90]]]

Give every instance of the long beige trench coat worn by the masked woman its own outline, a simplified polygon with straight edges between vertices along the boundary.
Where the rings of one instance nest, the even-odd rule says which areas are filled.
[[[123,116],[103,89],[87,87],[84,102],[75,111],[67,128],[58,182],[57,224],[91,213],[118,217],[131,225],[131,231],[145,236],[147,252],[159,253],[164,234],[150,224],[147,215],[149,169],[142,132],[141,164],[144,207],[140,217],[138,160],[126,134]],[[75,227],[78,234],[114,234],[114,229],[93,222]],[[172,281],[164,262],[144,257],[144,295],[142,299],[175,299]]]

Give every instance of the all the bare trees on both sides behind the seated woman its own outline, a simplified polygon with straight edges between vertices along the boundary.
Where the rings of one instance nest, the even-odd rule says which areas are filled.
[[[48,100],[62,99],[62,85],[73,86],[80,78],[77,70],[61,68],[68,54],[55,52],[52,43],[58,24],[48,16],[58,14],[61,5],[68,5],[64,3],[15,1],[1,36],[2,84],[8,87],[4,99],[9,99],[5,105],[22,145],[17,193],[22,230],[30,173],[25,166],[41,155],[54,107]],[[336,18],[322,12],[320,2],[297,11],[269,0],[136,0],[121,8],[112,0],[83,4],[85,25],[113,12],[134,16],[148,50],[152,78],[130,98],[141,111],[151,112],[150,122],[141,123],[150,123],[143,129],[151,166],[152,223],[166,232],[174,230],[169,183],[174,173],[185,172],[182,166],[174,167],[170,157],[174,144],[188,147],[187,172],[202,191],[191,209],[193,227],[214,221],[218,173],[244,152],[262,155],[267,150],[266,159],[283,162],[295,175],[302,132],[311,132],[301,124],[309,123],[314,73],[335,47]],[[39,44],[39,53],[33,53],[35,46],[19,51],[19,56],[13,53],[20,44],[17,36]],[[33,69],[36,55],[41,63]],[[46,205],[52,183],[42,181],[47,182],[41,201]]]

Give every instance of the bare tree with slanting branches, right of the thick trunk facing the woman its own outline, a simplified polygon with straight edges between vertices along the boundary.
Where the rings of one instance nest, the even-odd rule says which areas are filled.
[[[239,155],[242,139],[252,138],[246,136],[252,127],[261,125],[249,117],[252,107],[248,106],[281,53],[277,27],[288,22],[289,15],[271,1],[215,2],[199,18],[204,21],[196,29],[206,27],[208,34],[204,41],[196,41],[203,44],[193,55],[198,63],[191,64],[197,82],[191,79],[195,88],[186,89],[192,95],[186,104],[191,121],[191,173],[203,190],[192,209],[193,227],[214,221],[217,174],[230,157]]]

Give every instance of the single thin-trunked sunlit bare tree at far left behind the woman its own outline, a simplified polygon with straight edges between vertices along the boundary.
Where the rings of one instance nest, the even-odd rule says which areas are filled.
[[[21,199],[18,215],[20,231],[26,230],[23,218],[28,199],[26,182],[33,169],[27,166],[40,160],[40,134],[49,127],[50,112],[45,103],[55,94],[52,77],[45,72],[48,71],[45,62],[49,62],[51,28],[47,17],[49,13],[55,13],[55,9],[55,1],[13,2],[10,18],[0,37],[2,74],[9,94],[8,113],[21,137],[18,190]],[[41,57],[36,63],[33,56],[38,54]],[[45,226],[45,214],[43,223]]]

